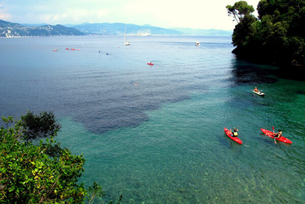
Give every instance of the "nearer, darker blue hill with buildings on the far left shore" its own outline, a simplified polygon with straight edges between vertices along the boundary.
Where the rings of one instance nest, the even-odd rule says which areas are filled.
[[[0,20],[0,37],[83,36],[85,33],[63,25],[24,26]]]

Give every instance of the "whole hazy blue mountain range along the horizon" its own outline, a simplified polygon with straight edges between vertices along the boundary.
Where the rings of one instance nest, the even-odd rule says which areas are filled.
[[[0,37],[28,36],[83,36],[97,35],[136,35],[143,30],[150,30],[151,35],[194,35],[194,36],[231,36],[231,30],[220,29],[191,29],[191,28],[162,28],[148,24],[135,25],[125,23],[81,23],[66,25],[18,24],[0,20]]]

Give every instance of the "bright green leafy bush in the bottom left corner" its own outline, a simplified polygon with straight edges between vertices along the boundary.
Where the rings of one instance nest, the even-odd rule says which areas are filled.
[[[9,123],[13,118],[3,117],[3,120]],[[102,187],[95,182],[88,189],[77,183],[84,172],[83,155],[73,155],[69,149],[60,148],[54,136],[45,143],[41,140],[39,145],[20,142],[18,138],[24,138],[21,124],[19,121],[14,127],[0,128],[0,202],[83,203],[88,196],[90,200],[104,196]],[[58,154],[50,156],[48,151]]]

